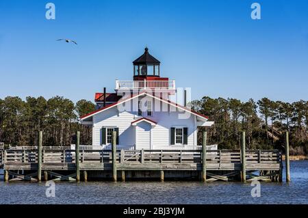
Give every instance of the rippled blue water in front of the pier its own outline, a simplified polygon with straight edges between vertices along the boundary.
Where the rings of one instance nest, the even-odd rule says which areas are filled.
[[[0,204],[308,204],[307,169],[292,161],[292,182],[262,182],[261,197],[241,182],[57,182],[46,197],[44,182],[1,181]]]

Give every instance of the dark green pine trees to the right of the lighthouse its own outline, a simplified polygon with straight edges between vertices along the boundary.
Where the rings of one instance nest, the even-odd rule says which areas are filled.
[[[242,131],[246,131],[248,149],[283,149],[285,131],[290,135],[290,154],[307,154],[308,101],[294,103],[268,98],[209,98],[193,100],[192,109],[209,116],[214,125],[207,129],[209,143],[218,148],[240,149]],[[198,140],[201,135],[198,135]]]

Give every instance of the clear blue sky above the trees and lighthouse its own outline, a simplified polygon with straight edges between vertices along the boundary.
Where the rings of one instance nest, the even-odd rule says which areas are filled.
[[[45,18],[48,2],[55,21]],[[115,79],[132,79],[145,45],[162,76],[192,87],[193,99],[308,97],[306,0],[1,0],[0,98],[93,100]]]

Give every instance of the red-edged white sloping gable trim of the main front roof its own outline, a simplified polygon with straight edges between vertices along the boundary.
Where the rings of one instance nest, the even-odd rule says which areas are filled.
[[[129,96],[129,97],[127,97],[127,98],[120,98],[120,100],[118,100],[116,103],[112,103],[111,105],[107,105],[107,106],[105,106],[105,107],[102,107],[101,109],[98,109],[98,110],[96,110],[96,111],[92,111],[91,113],[88,113],[88,114],[86,114],[86,115],[82,115],[80,118],[81,118],[81,120],[82,119],[84,119],[84,118],[86,118],[86,117],[88,117],[88,116],[90,116],[90,115],[93,115],[94,113],[98,113],[99,111],[103,111],[103,110],[105,110],[105,109],[107,109],[107,108],[110,108],[110,107],[113,107],[113,106],[115,106],[115,105],[118,105],[118,104],[120,104],[120,103],[122,103],[122,102],[124,102],[124,101],[126,101],[126,100],[130,100],[131,98],[134,98],[134,97],[136,97],[136,96],[141,96],[142,94],[146,94],[146,95],[148,95],[148,96],[151,96],[151,97],[153,97],[153,98],[159,98],[160,100],[164,100],[164,101],[166,101],[166,103],[168,103],[168,104],[170,104],[170,105],[173,105],[173,106],[175,106],[175,107],[179,107],[179,108],[181,108],[181,109],[183,109],[183,110],[185,110],[185,111],[189,111],[190,113],[192,113],[192,114],[194,114],[194,115],[198,115],[198,116],[200,116],[200,117],[203,117],[203,118],[205,118],[205,119],[209,119],[209,117],[207,116],[207,115],[203,115],[202,113],[198,113],[198,112],[196,112],[196,111],[193,111],[192,109],[189,109],[188,107],[183,107],[182,105],[179,105],[179,104],[177,104],[177,103],[173,103],[172,101],[170,101],[170,100],[168,100],[168,99],[165,99],[165,98],[162,98],[162,97],[158,97],[158,96],[153,96],[152,94],[149,94],[148,92],[140,92],[139,94],[131,94],[131,96]]]

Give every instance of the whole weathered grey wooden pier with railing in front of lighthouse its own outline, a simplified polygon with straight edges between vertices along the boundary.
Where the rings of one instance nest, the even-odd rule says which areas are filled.
[[[0,150],[4,180],[39,182],[43,172],[44,180],[87,181],[105,174],[105,178],[125,181],[146,174],[163,181],[186,174],[205,182],[282,181],[280,150],[116,150],[115,144],[112,150],[39,147]]]

